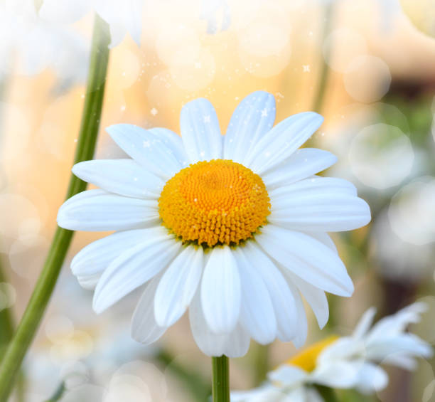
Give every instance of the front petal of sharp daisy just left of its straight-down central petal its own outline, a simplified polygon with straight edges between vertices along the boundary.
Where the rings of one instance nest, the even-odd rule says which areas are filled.
[[[203,248],[187,246],[163,274],[154,300],[156,322],[170,327],[186,311],[203,273]]]

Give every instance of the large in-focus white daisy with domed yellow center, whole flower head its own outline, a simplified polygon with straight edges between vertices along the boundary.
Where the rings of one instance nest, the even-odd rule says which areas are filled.
[[[316,176],[333,154],[298,150],[323,117],[304,112],[272,128],[274,118],[274,97],[254,92],[225,136],[205,99],[181,110],[181,137],[163,128],[107,128],[132,159],[76,164],[74,174],[101,189],[73,196],[58,212],[63,228],[116,231],[71,264],[83,286],[96,286],[95,312],[144,285],[134,339],[156,341],[188,310],[209,356],[242,356],[250,338],[301,346],[301,295],[326,324],[325,292],[353,292],[326,232],[367,224],[370,209],[348,181]]]

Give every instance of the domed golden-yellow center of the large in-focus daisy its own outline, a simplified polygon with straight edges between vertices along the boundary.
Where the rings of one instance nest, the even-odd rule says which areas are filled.
[[[183,242],[237,245],[252,238],[270,211],[266,186],[258,174],[230,160],[192,164],[169,179],[159,214]]]

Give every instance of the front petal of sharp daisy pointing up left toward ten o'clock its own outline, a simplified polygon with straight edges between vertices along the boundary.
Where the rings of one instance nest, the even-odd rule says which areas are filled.
[[[182,167],[172,147],[168,147],[155,132],[134,125],[113,125],[106,131],[124,152],[162,179],[171,179]]]

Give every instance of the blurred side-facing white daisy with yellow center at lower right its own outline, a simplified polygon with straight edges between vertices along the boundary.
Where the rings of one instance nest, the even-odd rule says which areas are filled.
[[[321,402],[316,385],[356,388],[363,393],[380,391],[387,386],[388,376],[379,364],[412,370],[415,357],[431,356],[429,344],[405,332],[409,324],[419,322],[425,310],[423,303],[414,303],[372,326],[375,309],[371,308],[352,336],[313,344],[269,373],[269,381],[262,387],[233,392],[231,401]]]

